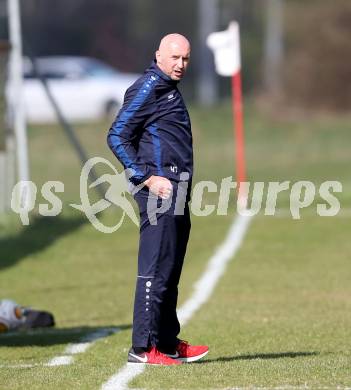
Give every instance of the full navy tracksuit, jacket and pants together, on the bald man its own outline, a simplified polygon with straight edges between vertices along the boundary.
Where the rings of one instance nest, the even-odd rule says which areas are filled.
[[[177,83],[154,60],[127,90],[108,133],[108,145],[128,168],[133,184],[157,175],[173,185],[169,207],[156,214],[156,225],[147,213],[148,189],[143,187],[134,195],[140,213],[140,243],[132,344],[156,345],[164,352],[174,350],[180,331],[176,306],[190,232],[188,200],[193,173],[190,118]],[[175,195],[185,199],[182,213],[175,212]],[[157,206],[160,203],[156,199]]]

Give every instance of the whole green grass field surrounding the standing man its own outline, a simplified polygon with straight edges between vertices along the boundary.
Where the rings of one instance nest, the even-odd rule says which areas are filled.
[[[196,178],[220,183],[233,175],[229,104],[192,107]],[[107,124],[78,126],[91,156],[107,157]],[[350,118],[282,121],[251,107],[246,113],[250,180],[339,180],[341,212],[316,214],[316,202],[293,220],[282,194],[276,217],[256,216],[209,301],[181,337],[208,343],[199,363],[147,367],[130,388],[350,388],[351,241],[348,209]],[[130,344],[138,229],[126,221],[114,234],[97,232],[68,205],[79,203],[79,163],[55,126],[29,129],[33,180],[38,188],[60,180],[65,191],[58,217],[30,216],[22,228],[11,213],[0,217],[0,298],[47,309],[57,326],[0,335],[0,389],[100,389],[122,368]],[[215,194],[206,200],[214,202]],[[37,204],[43,201],[39,195]],[[192,235],[180,286],[180,304],[235,217],[192,218]],[[101,218],[116,222],[118,210]],[[69,365],[48,366],[70,345],[105,329],[112,333]],[[118,328],[118,331],[116,331]]]

